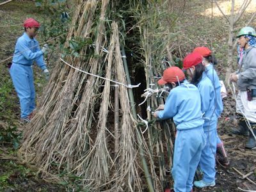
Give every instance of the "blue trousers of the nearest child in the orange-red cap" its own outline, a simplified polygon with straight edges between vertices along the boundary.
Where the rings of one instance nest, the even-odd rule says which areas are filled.
[[[172,168],[175,192],[191,191],[204,146],[205,134],[202,126],[177,131]]]

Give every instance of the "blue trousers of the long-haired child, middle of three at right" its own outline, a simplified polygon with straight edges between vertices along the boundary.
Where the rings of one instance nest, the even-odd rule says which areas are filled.
[[[204,132],[206,136],[206,144],[202,151],[199,166],[204,173],[203,180],[205,182],[212,182],[215,180],[215,155],[217,148],[217,118],[212,118],[212,124],[210,127],[204,126]]]

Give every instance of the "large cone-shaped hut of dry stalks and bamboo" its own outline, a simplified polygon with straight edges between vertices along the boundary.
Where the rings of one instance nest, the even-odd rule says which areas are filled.
[[[120,2],[109,0],[76,3],[65,43],[69,52],[65,52],[63,60],[91,74],[131,84],[121,45],[129,38],[117,13],[128,20],[132,18],[129,15],[134,15],[132,31],[138,40],[137,54],[145,68],[147,88],[156,84],[154,76],[164,68],[162,60],[171,34],[170,28],[163,27],[168,1],[122,1],[122,7]],[[129,10],[124,11],[127,6]],[[159,21],[163,23],[157,24]],[[76,49],[79,56],[72,54],[74,46],[70,45],[77,39],[83,41],[83,46]],[[58,61],[40,108],[26,127],[20,154],[39,166],[45,178],[51,175],[51,179],[58,179],[54,175],[64,171],[73,173],[81,178],[84,188],[92,191],[143,191],[145,180],[149,191],[161,191],[167,183],[166,167],[172,165],[172,129],[166,122],[164,128],[157,123],[142,134],[132,89],[119,85],[115,96],[112,85]],[[120,103],[115,115],[119,126],[115,129],[109,123],[113,118],[113,97]],[[147,105],[154,109],[163,102],[163,97],[150,97]],[[151,118],[148,112],[147,119]]]

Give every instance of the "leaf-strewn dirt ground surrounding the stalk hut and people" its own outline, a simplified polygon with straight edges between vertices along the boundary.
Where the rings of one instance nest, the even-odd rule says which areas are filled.
[[[192,51],[197,45],[206,45],[212,48],[219,60],[219,65],[216,68],[220,78],[223,79],[225,76],[225,67],[223,66],[227,61],[225,57],[227,53],[227,22],[221,16],[211,19],[210,16],[202,14],[209,8],[211,8],[210,1],[187,2],[186,11],[177,20],[175,30],[181,31],[179,40],[182,56]],[[251,14],[246,13],[237,28],[243,26]],[[31,1],[13,1],[0,6],[0,60],[13,54],[15,42],[23,31],[17,24],[21,24],[26,17],[42,20],[45,15],[39,13]],[[253,24],[255,26],[255,21]],[[7,63],[8,61],[0,64],[0,129],[6,129],[8,126],[20,127],[19,100],[12,87]],[[35,69],[35,77],[36,92],[40,96],[45,81],[38,69]],[[228,97],[224,99],[224,108],[219,121],[218,133],[225,143],[230,165],[225,168],[220,165],[216,166],[216,186],[214,188],[195,189],[195,191],[241,191],[238,188],[256,191],[255,184],[242,179],[241,175],[234,170],[236,168],[244,175],[253,172],[248,178],[256,182],[256,150],[244,149],[246,137],[230,134],[230,129],[237,126],[234,116],[235,102],[231,93],[228,93]],[[40,179],[40,174],[36,170],[31,170],[18,163],[15,157],[16,152],[12,146],[0,142],[0,191],[66,191],[65,185],[45,182]]]

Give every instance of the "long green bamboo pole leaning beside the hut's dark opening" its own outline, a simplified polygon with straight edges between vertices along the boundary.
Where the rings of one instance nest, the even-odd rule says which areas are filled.
[[[127,83],[131,84],[131,79],[130,79],[130,76],[129,76],[129,70],[128,70],[128,65],[127,65],[124,45],[121,46],[121,50],[122,50],[122,60],[123,60],[123,63],[124,63],[124,70],[125,70],[125,74],[126,74]],[[130,100],[131,108],[132,108],[132,116],[133,116],[133,118],[137,119],[136,109],[135,109],[135,102],[134,102],[134,97],[133,97],[132,89],[128,90],[128,94],[129,94],[129,100]],[[140,155],[141,155],[141,161],[142,161],[142,165],[143,165],[143,170],[145,172],[145,177],[147,179],[148,191],[154,192],[154,186],[152,184],[152,177],[151,177],[151,175],[150,175],[150,173],[148,171],[147,161],[145,159],[144,150],[142,148],[143,147],[142,139],[141,139],[141,136],[140,136],[138,131],[136,131],[136,134],[137,134],[137,137],[138,137],[138,143],[139,143],[139,149],[140,149]]]

